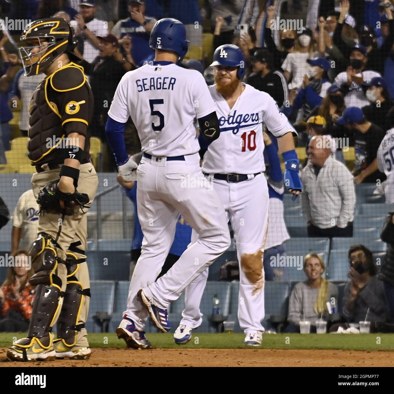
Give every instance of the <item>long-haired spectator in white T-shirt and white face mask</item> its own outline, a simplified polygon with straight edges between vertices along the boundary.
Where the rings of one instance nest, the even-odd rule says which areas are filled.
[[[286,60],[282,64],[284,76],[288,82],[290,82],[290,90],[301,88],[305,74],[307,74],[308,77],[312,74],[307,59],[314,58],[318,55],[318,53],[315,53],[314,40],[312,38],[312,32],[309,29],[303,29],[303,32],[298,36],[298,42],[300,50],[288,54]]]

